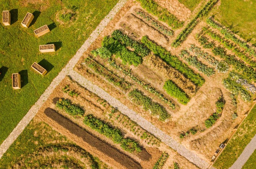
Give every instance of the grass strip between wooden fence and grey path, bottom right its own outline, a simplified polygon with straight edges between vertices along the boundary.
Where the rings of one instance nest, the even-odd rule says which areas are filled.
[[[237,129],[236,134],[229,141],[227,147],[213,166],[217,169],[226,169],[231,167],[255,134],[256,106],[253,107],[251,113],[248,114],[239,129]]]

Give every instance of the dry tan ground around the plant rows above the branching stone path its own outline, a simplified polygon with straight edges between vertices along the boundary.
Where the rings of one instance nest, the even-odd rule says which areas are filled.
[[[166,1],[167,2],[167,1]],[[170,1],[168,1],[170,2]],[[166,8],[168,8],[168,3],[161,3]],[[181,5],[182,6],[182,5]],[[169,7],[170,8],[170,7]],[[210,161],[212,154],[216,151],[219,144],[222,143],[228,136],[231,134],[232,129],[241,121],[243,114],[250,107],[250,103],[245,103],[238,97],[237,108],[233,106],[230,92],[222,85],[222,81],[224,78],[228,76],[228,73],[218,73],[216,72],[211,77],[205,76],[202,72],[199,72],[195,67],[189,66],[196,73],[200,73],[202,77],[205,79],[205,83],[202,87],[200,87],[196,94],[191,98],[187,105],[181,105],[177,102],[176,99],[171,98],[163,89],[164,82],[166,78],[161,75],[161,72],[156,72],[151,70],[144,62],[138,66],[128,66],[125,67],[128,69],[132,69],[132,72],[138,75],[142,80],[148,82],[153,87],[155,87],[158,91],[164,94],[164,96],[170,100],[173,100],[175,104],[177,104],[177,108],[172,110],[168,107],[167,104],[158,99],[155,95],[145,91],[141,86],[135,84],[134,81],[129,77],[125,77],[124,74],[115,71],[120,77],[125,77],[127,81],[130,81],[134,85],[132,89],[138,88],[143,91],[146,95],[150,96],[153,101],[161,103],[164,107],[166,107],[167,111],[172,115],[172,118],[169,122],[162,123],[159,122],[156,118],[149,115],[148,112],[144,111],[140,107],[137,107],[131,101],[129,101],[126,92],[118,90],[114,85],[110,85],[108,82],[103,80],[100,75],[95,74],[89,71],[86,68],[86,65],[81,64],[88,55],[90,55],[90,51],[95,48],[99,48],[101,46],[102,38],[106,35],[111,35],[111,33],[118,29],[123,33],[127,34],[134,40],[140,41],[141,37],[146,35],[149,39],[155,41],[158,45],[163,46],[167,50],[171,52],[171,54],[178,56],[180,54],[180,50],[188,49],[191,44],[195,44],[196,46],[200,46],[199,42],[196,40],[195,35],[199,33],[201,28],[205,25],[204,21],[201,21],[195,29],[190,33],[187,40],[185,40],[181,46],[177,48],[171,47],[172,40],[177,36],[177,34],[182,30],[175,30],[174,36],[166,37],[153,27],[149,26],[147,23],[142,21],[141,19],[136,17],[135,10],[140,9],[140,4],[134,2],[132,0],[128,1],[125,6],[120,10],[116,16],[111,20],[108,26],[104,29],[104,31],[100,34],[98,39],[91,45],[91,47],[84,53],[84,56],[80,59],[78,64],[75,67],[75,70],[80,74],[84,75],[87,79],[92,81],[94,84],[100,86],[110,95],[119,99],[122,103],[127,105],[132,110],[139,113],[141,116],[146,118],[148,121],[151,121],[154,125],[162,129],[164,132],[172,136],[177,141],[181,142],[184,146],[192,151],[196,151],[197,154],[207,160]],[[145,11],[145,10],[144,10]],[[146,11],[145,11],[146,12]],[[189,13],[189,12],[187,12]],[[194,13],[194,12],[193,12]],[[189,14],[188,14],[189,15]],[[157,19],[156,17],[150,15],[152,18]],[[193,16],[187,16],[184,18],[193,18]],[[188,20],[186,20],[188,21]],[[159,21],[160,22],[160,21]],[[170,28],[167,24],[160,22],[164,26]],[[185,23],[186,25],[186,23]],[[171,28],[170,28],[171,29]],[[210,49],[202,49],[205,52],[213,55]],[[213,55],[214,56],[214,55]],[[216,59],[221,60],[221,58],[216,57]],[[96,58],[99,62],[105,65],[109,70],[113,70],[111,66],[109,66],[106,60],[102,60],[99,57]],[[209,65],[204,60],[198,58],[204,64]],[[119,59],[116,59],[116,62],[120,63]],[[183,60],[183,62],[185,62]],[[131,89],[131,90],[132,90]],[[206,129],[204,126],[204,121],[210,117],[210,115],[216,112],[215,102],[218,100],[220,96],[224,97],[226,101],[224,110],[221,114],[220,119],[209,129]],[[128,100],[128,101],[127,101]],[[237,112],[238,118],[236,120],[231,119],[231,114]],[[179,135],[181,132],[186,132],[190,128],[196,127],[198,132],[196,135],[192,136],[191,134],[186,136],[183,140],[180,140]]]

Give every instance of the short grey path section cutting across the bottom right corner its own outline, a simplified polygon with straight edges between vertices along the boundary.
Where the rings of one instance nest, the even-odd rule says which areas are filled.
[[[250,143],[247,144],[242,154],[236,159],[236,162],[229,169],[241,169],[254,150],[256,150],[256,135],[252,138]]]

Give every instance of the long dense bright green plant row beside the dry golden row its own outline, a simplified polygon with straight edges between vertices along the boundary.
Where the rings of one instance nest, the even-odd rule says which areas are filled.
[[[141,42],[144,43],[155,55],[163,59],[164,62],[190,79],[195,85],[202,86],[204,84],[205,80],[202,76],[200,76],[200,74],[195,73],[188,67],[188,65],[180,61],[177,56],[172,55],[162,46],[158,46],[156,43],[149,40],[147,36],[143,36]]]

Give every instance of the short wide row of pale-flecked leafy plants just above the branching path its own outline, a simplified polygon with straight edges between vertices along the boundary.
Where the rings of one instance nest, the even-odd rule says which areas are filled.
[[[143,106],[145,111],[149,111],[151,115],[158,117],[159,121],[166,121],[171,117],[164,107],[159,103],[152,101],[138,89],[133,89],[129,92],[128,97],[131,98],[135,104]]]

